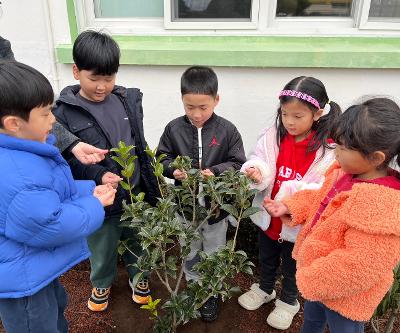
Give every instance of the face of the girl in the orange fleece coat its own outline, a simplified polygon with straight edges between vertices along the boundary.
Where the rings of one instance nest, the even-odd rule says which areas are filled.
[[[337,145],[335,148],[336,160],[346,173],[352,175],[368,175],[376,171],[376,165],[357,150]],[[363,177],[364,178],[364,177]]]

